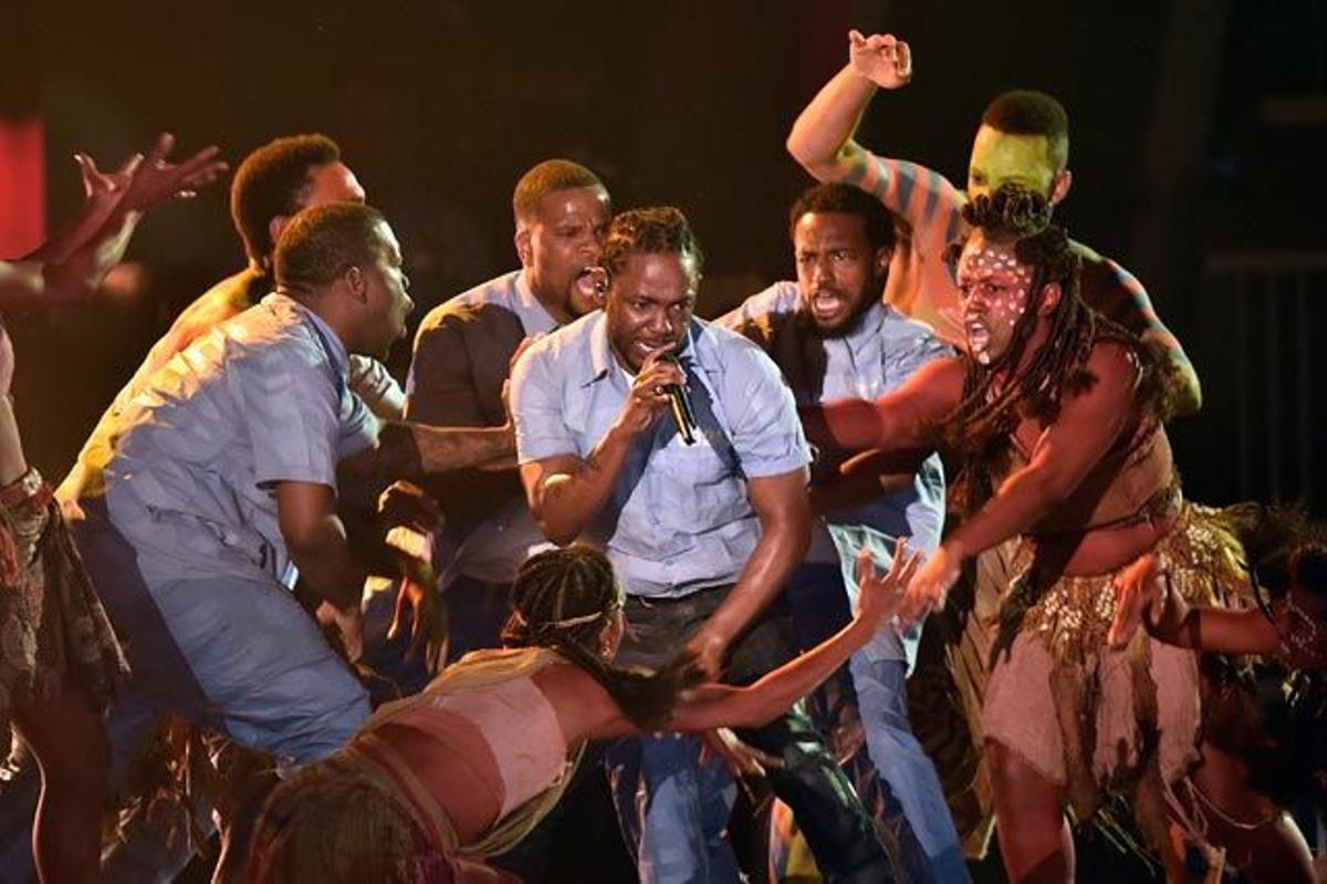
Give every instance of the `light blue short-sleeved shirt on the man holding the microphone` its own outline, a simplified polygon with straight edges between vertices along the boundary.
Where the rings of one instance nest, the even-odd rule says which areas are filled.
[[[736,581],[760,539],[746,479],[809,462],[792,393],[758,346],[693,320],[681,362],[697,443],[685,445],[667,414],[641,434],[584,538],[608,552],[622,587],[638,596],[677,597]],[[588,457],[629,393],[602,312],[537,341],[512,374],[520,462]]]

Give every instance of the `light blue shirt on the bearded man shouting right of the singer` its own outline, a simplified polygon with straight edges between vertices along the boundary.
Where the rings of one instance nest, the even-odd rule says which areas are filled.
[[[800,289],[794,281],[775,283],[752,295],[717,324],[738,328],[744,323],[766,324],[778,316],[791,317],[804,311]],[[813,334],[811,324],[798,333]],[[841,337],[816,336],[824,348],[824,376],[813,381],[798,372],[788,373],[798,405],[817,405],[832,400],[873,400],[898,388],[912,374],[932,360],[953,356],[953,349],[936,337],[925,323],[906,319],[885,304],[874,304],[861,321]],[[864,547],[871,547],[876,560],[885,563],[897,538],[909,538],[914,550],[930,553],[940,546],[945,524],[945,473],[940,457],[928,458],[913,487],[852,510],[832,512],[812,530],[809,560],[833,560],[843,567],[849,595],[856,599],[856,561]],[[893,641],[898,658],[912,658],[916,636],[909,636],[906,648]],[[881,642],[873,642],[881,644]],[[890,644],[890,642],[885,642]],[[890,656],[881,649],[882,656]]]

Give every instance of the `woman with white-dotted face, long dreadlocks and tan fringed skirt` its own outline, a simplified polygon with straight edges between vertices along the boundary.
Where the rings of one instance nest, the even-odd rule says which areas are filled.
[[[1019,539],[982,705],[1010,877],[1071,877],[1066,804],[1088,820],[1107,787],[1132,799],[1148,846],[1181,877],[1166,795],[1198,761],[1197,658],[1143,634],[1109,648],[1112,580],[1161,552],[1182,597],[1223,601],[1218,588],[1246,585],[1239,544],[1220,514],[1182,502],[1162,362],[1079,299],[1080,260],[1044,198],[1005,186],[963,215],[967,353],[874,402],[804,415],[807,430],[957,462],[962,522],[912,580],[904,619],[942,605],[974,556]]]

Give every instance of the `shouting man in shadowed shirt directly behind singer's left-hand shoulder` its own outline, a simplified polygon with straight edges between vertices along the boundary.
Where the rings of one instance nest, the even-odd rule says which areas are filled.
[[[434,426],[500,426],[502,390],[522,341],[597,308],[583,285],[612,218],[608,188],[568,159],[527,171],[512,195],[520,269],[453,297],[419,324],[406,415]],[[445,507],[439,581],[449,615],[449,660],[499,646],[516,569],[547,544],[516,471],[449,477],[434,488]]]

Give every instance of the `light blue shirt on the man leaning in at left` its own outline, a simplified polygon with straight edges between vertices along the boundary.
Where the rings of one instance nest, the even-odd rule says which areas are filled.
[[[377,438],[348,370],[345,346],[321,319],[269,295],[107,413],[61,494],[105,494],[149,584],[280,579],[289,553],[273,486],[336,488],[337,461]]]

